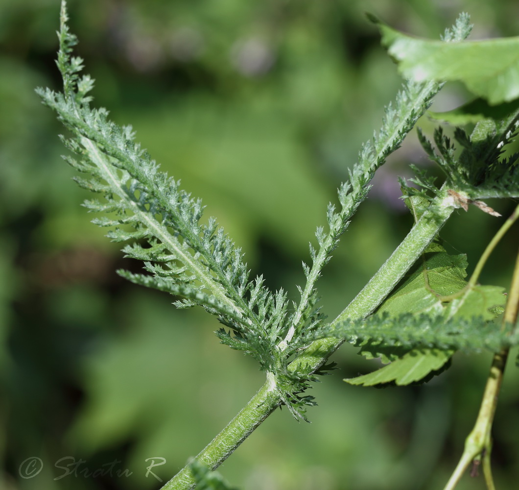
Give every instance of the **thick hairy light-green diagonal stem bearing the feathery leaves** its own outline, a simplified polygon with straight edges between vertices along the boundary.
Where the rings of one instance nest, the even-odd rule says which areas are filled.
[[[337,316],[332,325],[338,325],[349,318],[358,319],[372,313],[384,301],[407,270],[420,257],[427,245],[440,231],[454,207],[444,192],[436,197],[420,220],[409,231],[378,272],[364,286],[345,310]],[[289,369],[312,373],[340,346],[343,341],[334,337],[316,340],[294,360]],[[196,457],[211,469],[218,467],[235,449],[258,427],[279,405],[281,397],[276,387],[275,376],[267,374],[267,382],[250,402],[231,420]],[[166,483],[161,490],[188,490],[195,486],[189,465]]]

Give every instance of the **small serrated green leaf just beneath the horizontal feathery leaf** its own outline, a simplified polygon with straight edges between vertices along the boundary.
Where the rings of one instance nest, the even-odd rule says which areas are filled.
[[[398,386],[419,381],[445,365],[454,351],[424,349],[410,351],[391,364],[373,373],[345,379],[350,385],[375,386],[394,381]]]

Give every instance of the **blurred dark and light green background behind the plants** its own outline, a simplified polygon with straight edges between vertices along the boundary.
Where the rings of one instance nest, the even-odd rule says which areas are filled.
[[[433,38],[460,11],[471,14],[473,38],[519,31],[515,0],[76,0],[69,8],[77,52],[97,80],[95,104],[132,124],[163,168],[203,198],[252,273],[293,298],[327,203],[401,84],[364,12]],[[218,345],[212,317],[176,311],[171,298],[115,274],[140,266],[89,222],[80,207],[89,196],[60,158],[63,128],[34,94],[60,87],[58,15],[58,0],[0,2],[0,487],[159,488],[145,460],[165,458],[153,471],[169,479],[264,375]],[[447,86],[435,108],[465,97]],[[428,164],[414,133],[377,173],[324,270],[328,315],[411,226],[397,182],[410,176],[408,163]],[[512,209],[489,204],[503,215]],[[473,267],[499,224],[475,208],[460,211],[443,237]],[[508,287],[516,237],[517,229],[499,245],[482,282]],[[220,468],[225,478],[247,490],[441,488],[475,420],[490,355],[458,354],[426,386],[383,390],[342,381],[375,366],[355,349],[344,346],[333,360],[339,369],[311,390],[319,403],[312,423],[277,410]],[[494,471],[508,489],[519,478],[517,381],[509,366],[495,424]],[[22,470],[35,469],[30,457],[43,470],[22,478],[24,461]],[[65,470],[55,463],[66,457],[58,466],[85,462],[59,479]],[[81,473],[113,461],[112,476]],[[128,478],[117,474],[124,469]],[[467,476],[459,488],[484,483]]]

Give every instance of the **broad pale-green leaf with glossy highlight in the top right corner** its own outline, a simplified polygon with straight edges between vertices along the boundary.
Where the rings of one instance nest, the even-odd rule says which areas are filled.
[[[446,43],[408,36],[376,22],[382,44],[406,78],[459,81],[492,105],[519,97],[519,37]]]

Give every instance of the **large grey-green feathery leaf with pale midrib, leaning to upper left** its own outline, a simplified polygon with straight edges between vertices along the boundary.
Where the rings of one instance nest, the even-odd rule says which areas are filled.
[[[108,120],[105,109],[90,107],[87,94],[93,81],[79,76],[83,61],[71,56],[77,38],[69,32],[64,2],[58,36],[63,92],[37,92],[72,134],[62,141],[76,158],[65,160],[87,175],[75,180],[103,196],[84,203],[91,212],[109,214],[93,222],[109,228],[112,241],[130,242],[123,249],[126,256],[144,261],[149,273],[120,275],[183,298],[175,303],[179,307],[203,307],[239,333],[241,347],[262,368],[274,369],[277,361],[271,351],[286,333],[285,294],[270,293],[261,277],[249,281],[240,249],[213,218],[201,222],[201,201],[159,171],[135,143],[130,126],[120,127]]]

